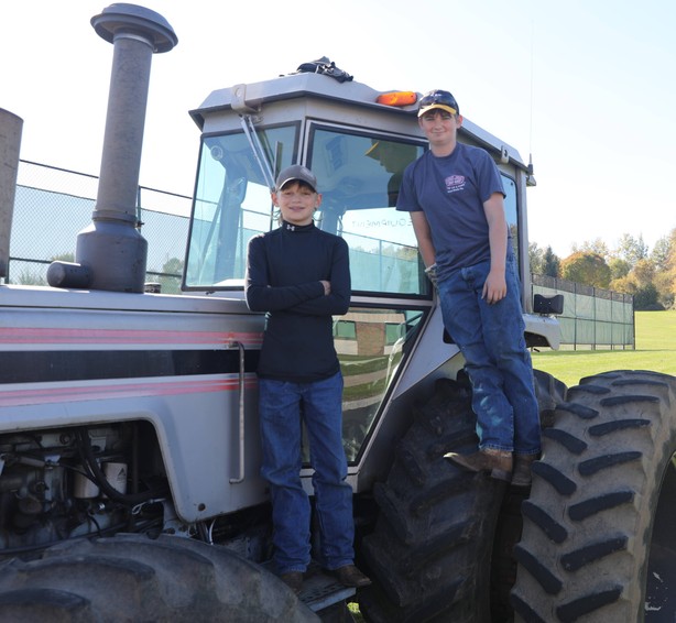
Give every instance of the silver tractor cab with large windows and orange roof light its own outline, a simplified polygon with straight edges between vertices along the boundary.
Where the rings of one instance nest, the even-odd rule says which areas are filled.
[[[216,90],[190,112],[201,145],[184,291],[243,298],[248,241],[279,226],[270,194],[277,173],[292,164],[306,165],[317,177],[317,227],[348,242],[351,307],[335,319],[334,336],[346,379],[345,439],[352,464],[367,455],[370,437],[384,438],[372,433],[397,396],[462,367],[444,332],[410,216],[395,208],[405,167],[427,149],[418,97],[296,73]],[[459,140],[487,149],[498,162],[509,226],[527,271],[520,231],[528,167],[515,150],[468,120]],[[395,426],[397,418],[388,420]],[[363,468],[356,473],[370,481]]]

